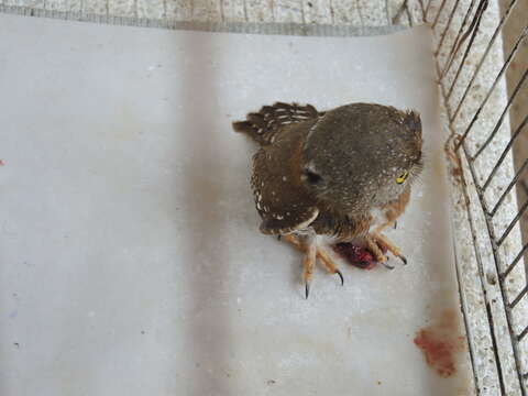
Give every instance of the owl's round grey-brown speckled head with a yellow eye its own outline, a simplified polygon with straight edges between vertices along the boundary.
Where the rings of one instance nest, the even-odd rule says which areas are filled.
[[[319,200],[354,213],[396,199],[421,168],[417,112],[354,103],[327,112],[311,128],[300,177]]]

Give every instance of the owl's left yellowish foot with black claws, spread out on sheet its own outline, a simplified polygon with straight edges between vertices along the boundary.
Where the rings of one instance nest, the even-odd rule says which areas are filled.
[[[324,250],[324,248],[319,246],[316,240],[310,240],[308,243],[302,243],[299,238],[288,234],[283,237],[285,241],[292,243],[295,248],[305,252],[305,257],[302,260],[302,278],[305,279],[305,293],[306,298],[310,294],[311,279],[314,278],[314,267],[316,266],[316,258],[324,265],[324,268],[330,274],[337,274],[341,279],[341,286],[344,285],[343,274],[336,266],[336,263],[330,257],[330,254]]]

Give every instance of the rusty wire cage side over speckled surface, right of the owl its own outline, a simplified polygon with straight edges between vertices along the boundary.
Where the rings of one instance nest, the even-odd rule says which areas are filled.
[[[498,4],[488,0],[419,2],[436,36],[438,84],[450,134],[446,148],[453,183],[459,187],[453,191],[453,204],[465,207],[473,242],[476,266],[461,262],[457,254],[457,270],[479,395],[528,394],[528,283],[524,266],[528,243],[518,243],[519,221],[528,200],[515,205],[528,158],[516,158],[521,164],[517,169],[512,166],[513,147],[521,133],[528,132],[528,107],[517,99],[528,89],[528,63],[518,58],[527,42],[528,24],[516,33],[504,57],[502,42],[502,30],[517,3],[510,1],[497,18]],[[525,70],[505,97],[505,74],[513,65]],[[525,117],[512,124],[510,133],[513,106],[520,107]],[[512,204],[517,212],[512,212]],[[455,230],[455,235],[459,232]],[[471,273],[477,276],[468,279]],[[473,295],[477,289],[480,301]],[[484,334],[472,323],[479,320],[479,310],[480,320],[487,319],[488,332]]]

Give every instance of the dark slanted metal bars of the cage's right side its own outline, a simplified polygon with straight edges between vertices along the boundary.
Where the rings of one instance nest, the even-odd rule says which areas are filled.
[[[518,227],[522,215],[528,209],[528,200],[518,208],[517,213],[514,216],[513,219],[509,220],[504,231],[499,232],[497,230],[494,223],[494,218],[497,216],[502,207],[505,205],[506,198],[515,194],[515,187],[518,186],[518,184],[521,180],[521,175],[524,174],[524,170],[528,167],[528,158],[526,158],[524,161],[524,164],[517,169],[517,172],[515,172],[510,183],[507,186],[504,186],[505,189],[503,194],[498,196],[498,200],[493,206],[492,210],[488,209],[486,190],[490,190],[492,180],[496,176],[498,169],[506,163],[507,160],[512,161],[509,155],[512,153],[513,146],[516,143],[516,140],[525,130],[525,127],[528,122],[528,116],[525,117],[525,119],[516,127],[514,133],[509,136],[509,140],[507,141],[505,146],[502,147],[501,151],[498,152],[499,153],[498,158],[490,167],[491,169],[490,174],[485,177],[485,182],[483,184],[479,182],[480,180],[479,176],[482,174],[483,170],[486,170],[486,169],[477,170],[476,160],[481,156],[484,156],[483,153],[486,151],[486,148],[488,148],[492,145],[492,143],[494,143],[497,140],[499,131],[502,131],[501,134],[504,135],[503,128],[505,127],[506,122],[509,121],[508,114],[509,114],[512,105],[516,99],[518,92],[524,86],[524,82],[528,76],[528,69],[524,73],[522,77],[517,82],[513,92],[510,92],[509,97],[507,98],[506,102],[501,109],[501,116],[498,120],[494,123],[493,128],[486,131],[486,129],[475,128],[475,127],[479,124],[484,112],[486,111],[486,105],[490,103],[490,99],[494,90],[499,85],[504,86],[505,74],[510,67],[513,59],[515,58],[521,43],[525,41],[528,34],[528,25],[521,32],[519,32],[519,35],[515,42],[514,47],[512,48],[510,53],[506,57],[506,61],[502,65],[493,82],[487,88],[484,99],[482,100],[480,106],[476,109],[471,109],[471,107],[469,107],[466,102],[469,92],[473,87],[481,69],[483,68],[484,62],[488,58],[492,47],[496,45],[497,37],[501,36],[502,30],[505,26],[506,22],[508,21],[509,15],[513,13],[516,7],[517,0],[513,0],[509,3],[503,16],[497,21],[494,33],[491,36],[491,38],[488,38],[487,44],[485,44],[484,46],[485,50],[483,51],[483,54],[480,61],[476,63],[476,66],[473,69],[469,66],[466,61],[469,58],[470,52],[473,50],[475,45],[475,42],[479,40],[481,41],[483,40],[483,37],[480,36],[480,24],[482,19],[486,16],[488,2],[486,0],[480,1],[477,9],[475,10],[472,16],[473,20],[471,21],[470,26],[468,28],[466,32],[463,33],[462,35],[462,31],[464,30],[464,26],[468,25],[468,18],[474,8],[474,1],[471,1],[471,3],[465,8],[465,16],[458,29],[458,33],[455,34],[454,40],[452,40],[451,43],[449,43],[449,41],[447,40],[448,32],[453,33],[457,31],[457,28],[455,28],[457,23],[454,22],[455,14],[460,13],[461,12],[460,9],[461,8],[463,9],[469,1],[465,1],[465,2],[462,1],[462,2],[463,4],[461,4],[460,1],[455,1],[454,3],[451,2],[449,7],[447,4],[448,1],[442,1],[438,8],[437,14],[430,15],[429,13],[426,13],[426,15],[429,21],[433,21],[432,29],[435,30],[439,41],[439,44],[436,47],[435,55],[437,56],[438,82],[440,86],[443,107],[449,119],[449,128],[451,133],[451,139],[448,141],[448,148],[452,151],[453,153],[452,155],[455,155],[460,163],[466,164],[465,172],[471,178],[471,185],[473,186],[472,188],[475,189],[476,195],[479,197],[479,204],[481,207],[482,216],[485,219],[488,242],[491,244],[492,252],[493,252],[494,267],[496,273],[498,274],[498,289],[499,289],[499,295],[502,297],[501,300],[502,300],[504,312],[506,316],[506,323],[508,327],[508,333],[509,333],[512,350],[514,354],[513,358],[515,361],[516,376],[518,382],[517,384],[518,387],[515,394],[520,394],[522,396],[526,396],[528,394],[528,389],[527,389],[528,388],[528,384],[527,384],[528,367],[522,362],[522,350],[520,346],[520,342],[526,338],[526,334],[528,332],[528,326],[525,323],[521,327],[522,330],[520,331],[516,330],[518,326],[515,326],[515,322],[516,322],[515,310],[521,309],[519,308],[519,306],[521,305],[520,302],[522,299],[527,298],[528,283],[526,283],[526,279],[525,279],[524,287],[515,296],[510,298],[510,296],[508,296],[506,279],[508,276],[512,275],[514,270],[517,271],[519,268],[519,263],[522,262],[522,257],[525,253],[528,252],[528,243],[526,243],[520,249],[520,251],[516,254],[516,256],[512,260],[512,262],[508,262],[507,257],[502,251],[502,245],[508,239],[508,237],[512,235],[512,231]],[[447,15],[443,15],[443,26],[441,23],[442,12],[448,13]],[[465,50],[461,52],[460,50],[462,48],[463,42],[468,37],[470,37],[468,45]],[[447,56],[444,54],[443,56],[444,62],[442,64],[441,63],[442,59],[439,59],[440,50],[448,45],[451,45],[451,47],[450,50],[443,48],[443,52],[447,53]],[[482,43],[480,45],[482,48]],[[455,64],[455,62],[459,62],[459,66],[457,72],[453,73],[452,67]],[[464,80],[461,79],[462,73],[465,73]],[[465,86],[464,86],[464,82],[465,82]],[[455,88],[455,86],[459,86],[459,87]],[[454,91],[460,94],[460,100],[455,103],[453,109],[451,107],[450,100],[452,100],[454,96]],[[460,114],[463,110],[470,113],[469,114],[470,117],[469,118],[466,117],[466,119],[471,120],[465,125],[464,125],[464,122],[460,120]],[[470,136],[472,139],[476,136],[486,136],[484,143],[481,144],[474,151],[474,153],[471,152],[471,148],[469,146],[468,139],[470,139]],[[450,144],[451,142],[452,144]],[[462,157],[464,158],[464,161],[461,161]],[[466,176],[464,176],[464,172],[462,172],[462,180],[463,180],[462,185],[464,189],[464,195],[466,197],[466,201],[469,202],[470,198],[468,196],[468,193],[465,193],[465,190],[469,188],[470,183],[468,183],[464,179],[465,177]],[[484,285],[485,273],[484,273],[481,255],[479,252],[479,248],[476,246],[476,240],[477,240],[476,233],[482,232],[482,230],[475,229],[475,226],[473,224],[474,220],[472,217],[473,216],[472,210],[470,210],[469,207],[468,207],[468,216],[469,216],[469,221],[471,223],[471,232],[473,234],[472,238],[474,241],[475,255],[477,258],[479,273],[481,277],[482,295],[484,298],[486,314],[488,317],[490,333],[492,337],[493,348],[495,350],[498,348],[498,340],[496,334],[497,323],[495,323],[495,318],[491,309],[491,298],[488,296],[487,288]],[[502,268],[505,268],[505,270],[502,271]],[[494,352],[495,352],[494,363],[496,365],[496,370],[498,374],[498,387],[501,389],[501,395],[506,395],[506,394],[509,395],[510,393],[508,393],[508,391],[506,389],[505,376],[503,374],[504,367],[502,366],[501,358],[496,353],[496,350]],[[477,394],[481,394],[482,389],[479,388],[479,384],[476,380],[475,380],[475,385],[476,385]]]

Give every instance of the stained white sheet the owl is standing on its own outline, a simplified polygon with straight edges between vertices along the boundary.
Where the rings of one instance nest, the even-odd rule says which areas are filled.
[[[458,310],[429,31],[322,38],[0,15],[0,393],[466,395],[413,338]],[[275,100],[421,112],[427,166],[389,237],[409,265],[316,273],[258,234]],[[16,345],[15,345],[16,343]],[[274,381],[272,383],[271,381]],[[377,382],[381,382],[378,384]]]

